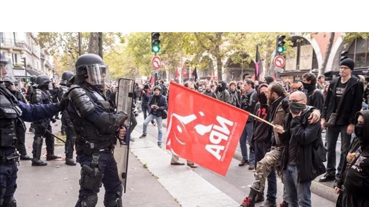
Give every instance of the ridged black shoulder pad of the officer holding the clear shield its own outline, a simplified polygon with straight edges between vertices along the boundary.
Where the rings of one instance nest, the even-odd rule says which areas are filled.
[[[80,117],[87,116],[95,110],[95,105],[86,94],[86,91],[78,85],[72,85],[72,87],[70,87],[68,99],[72,102],[72,105]]]

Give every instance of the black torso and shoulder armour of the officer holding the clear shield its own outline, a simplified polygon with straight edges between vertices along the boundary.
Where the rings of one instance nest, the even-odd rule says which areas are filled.
[[[92,97],[96,97],[94,101]],[[70,120],[75,127],[77,135],[76,152],[77,154],[92,154],[100,149],[113,150],[117,142],[116,132],[110,134],[100,134],[99,129],[92,122],[82,119],[90,112],[93,112],[95,105],[100,105],[106,112],[110,111],[110,103],[103,95],[94,91],[87,85],[72,85],[68,91],[68,101],[72,101],[78,115],[69,113]]]

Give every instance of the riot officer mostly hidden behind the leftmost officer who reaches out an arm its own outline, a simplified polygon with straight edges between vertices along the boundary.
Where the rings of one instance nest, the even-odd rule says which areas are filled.
[[[13,96],[18,101],[25,103],[26,101],[23,94],[20,91],[16,90],[14,82],[15,82],[14,80],[10,80],[10,78],[8,77],[4,78],[5,87],[11,92],[11,94],[13,94]],[[15,126],[16,126],[15,130],[17,131],[18,135],[18,145],[16,147],[20,153],[20,159],[31,160],[32,158],[27,155],[27,150],[25,148],[25,132],[27,128],[25,127],[25,124],[20,117],[17,117],[17,119],[15,119]]]

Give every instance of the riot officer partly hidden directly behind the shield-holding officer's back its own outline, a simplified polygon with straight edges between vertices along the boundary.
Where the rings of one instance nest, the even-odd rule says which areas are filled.
[[[60,88],[58,91],[58,99],[61,101],[63,96],[68,92],[70,78],[74,76],[72,71],[65,71],[62,74],[62,81],[60,82]],[[76,165],[76,161],[73,159],[73,147],[76,143],[76,133],[73,128],[73,124],[69,119],[67,110],[62,112],[62,127],[65,129],[66,141],[65,141],[65,164]]]

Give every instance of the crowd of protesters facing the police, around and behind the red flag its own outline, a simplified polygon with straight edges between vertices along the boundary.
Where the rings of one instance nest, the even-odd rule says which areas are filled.
[[[187,81],[204,95],[216,98],[253,113],[275,124],[271,127],[249,116],[239,139],[242,160],[254,170],[255,180],[241,207],[275,207],[277,175],[284,183],[283,206],[311,206],[311,181],[323,175],[319,182],[335,181],[339,194],[337,206],[369,206],[369,84],[363,76],[354,76],[354,62],[345,59],[340,64],[340,76],[326,81],[323,75],[305,73],[293,83],[266,76],[263,81]],[[161,112],[168,105],[168,84],[144,84],[141,91],[144,126],[153,120],[162,123]],[[138,93],[139,94],[139,93]],[[151,96],[149,96],[151,94]],[[159,96],[160,95],[160,96]],[[160,101],[162,100],[162,101]],[[165,101],[164,101],[165,100]],[[163,103],[161,103],[163,102]],[[154,106],[153,106],[154,105]],[[148,118],[146,112],[159,118]],[[162,129],[158,126],[158,145]],[[322,138],[325,133],[325,139]],[[146,127],[141,137],[146,136]],[[336,144],[341,138],[341,154],[336,163]],[[247,147],[247,145],[249,147]],[[324,162],[327,162],[324,165]],[[184,165],[172,157],[172,165]],[[197,167],[187,162],[191,167]],[[268,182],[266,200],[265,182]]]

